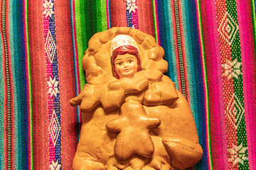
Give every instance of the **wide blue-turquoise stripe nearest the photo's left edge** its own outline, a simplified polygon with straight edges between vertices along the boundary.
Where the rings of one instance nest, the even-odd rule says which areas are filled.
[[[15,168],[28,169],[28,101],[23,1],[9,1],[11,69],[14,81]]]

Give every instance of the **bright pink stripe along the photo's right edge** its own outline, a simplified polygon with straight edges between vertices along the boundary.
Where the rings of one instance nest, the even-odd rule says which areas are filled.
[[[250,169],[256,169],[256,61],[253,41],[252,6],[250,1],[237,0],[242,55],[242,77],[245,101],[245,125]],[[246,19],[245,19],[246,18]]]

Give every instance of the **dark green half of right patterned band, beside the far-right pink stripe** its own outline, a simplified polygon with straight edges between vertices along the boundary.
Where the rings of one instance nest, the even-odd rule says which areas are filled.
[[[227,0],[227,11],[230,15],[229,18],[229,26],[230,28],[234,28],[233,26],[238,26],[238,12],[236,1],[234,0]],[[231,31],[232,33],[232,31]],[[234,38],[234,39],[233,39]],[[240,35],[239,30],[233,37],[233,34],[230,35],[230,41],[233,40],[231,43],[231,54],[232,54],[232,61],[237,63],[240,62],[241,66],[236,68],[235,64],[233,66],[233,73],[236,74],[236,70],[240,69],[241,74],[238,74],[238,79],[233,77],[233,85],[234,85],[234,93],[235,93],[235,118],[236,118],[236,130],[237,130],[237,137],[238,137],[238,163],[240,169],[249,169],[249,162],[248,160],[242,160],[241,157],[248,158],[247,154],[247,134],[246,134],[246,126],[245,126],[245,105],[244,105],[244,96],[243,96],[243,83],[242,83],[242,56],[241,56],[241,47],[240,47]],[[235,148],[237,149],[237,148]],[[235,161],[235,160],[234,160]]]

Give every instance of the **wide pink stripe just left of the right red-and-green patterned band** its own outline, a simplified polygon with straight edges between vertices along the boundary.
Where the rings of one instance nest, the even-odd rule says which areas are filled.
[[[213,169],[228,169],[228,153],[225,130],[225,108],[221,78],[220,44],[215,1],[201,1],[203,43],[205,45],[210,112],[210,146]],[[218,160],[218,162],[216,162]]]

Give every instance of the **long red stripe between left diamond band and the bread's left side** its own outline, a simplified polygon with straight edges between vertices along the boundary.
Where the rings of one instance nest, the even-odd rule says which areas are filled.
[[[65,6],[65,8],[63,8]],[[58,53],[58,75],[60,84],[61,119],[61,164],[62,169],[72,169],[77,137],[76,108],[68,101],[75,97],[75,73],[73,66],[73,44],[71,36],[70,2],[55,1],[56,43]]]

